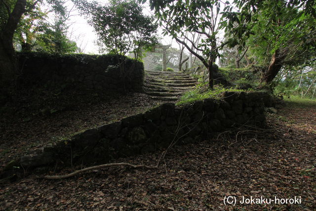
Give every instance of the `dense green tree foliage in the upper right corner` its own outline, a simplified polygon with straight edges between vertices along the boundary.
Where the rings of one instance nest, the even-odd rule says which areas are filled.
[[[232,47],[249,47],[247,54],[256,65],[268,66],[275,53],[277,64],[282,66],[301,65],[315,58],[315,1],[235,0],[234,3],[238,11],[224,9],[221,28],[231,38]]]

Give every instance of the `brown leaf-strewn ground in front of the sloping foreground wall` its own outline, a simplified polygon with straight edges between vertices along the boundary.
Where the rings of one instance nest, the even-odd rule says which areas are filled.
[[[226,136],[176,146],[158,169],[111,167],[63,180],[30,175],[0,186],[0,208],[316,210],[316,101],[287,100],[277,114],[267,116],[267,124],[267,129],[255,134],[243,133],[237,142],[233,135],[231,139]],[[157,152],[117,162],[156,165],[160,155]],[[224,204],[229,196],[236,197],[235,206]],[[261,196],[301,201],[292,205],[240,202],[243,197]]]

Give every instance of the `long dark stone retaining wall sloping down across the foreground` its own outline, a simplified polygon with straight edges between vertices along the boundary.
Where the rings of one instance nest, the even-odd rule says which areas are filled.
[[[172,140],[187,143],[225,131],[234,124],[265,126],[265,107],[273,98],[265,92],[224,92],[222,100],[211,98],[176,107],[165,103],[102,127],[86,130],[42,151],[21,157],[6,169],[91,165],[113,158],[154,152],[166,148]]]

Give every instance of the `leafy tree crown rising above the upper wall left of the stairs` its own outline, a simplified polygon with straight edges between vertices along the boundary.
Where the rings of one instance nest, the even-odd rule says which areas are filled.
[[[142,47],[158,42],[154,35],[158,25],[152,16],[142,13],[135,0],[110,0],[105,6],[95,1],[74,2],[94,27],[101,52],[125,55],[133,51],[137,59]]]

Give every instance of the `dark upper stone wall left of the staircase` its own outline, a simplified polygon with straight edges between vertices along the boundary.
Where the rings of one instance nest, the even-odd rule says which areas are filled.
[[[19,53],[21,86],[142,92],[143,63],[116,55]],[[119,61],[124,60],[122,67]]]

